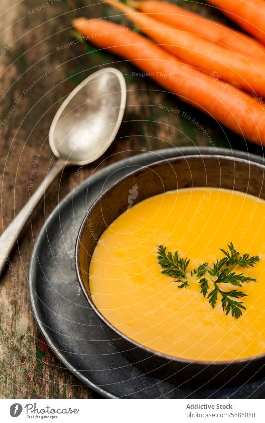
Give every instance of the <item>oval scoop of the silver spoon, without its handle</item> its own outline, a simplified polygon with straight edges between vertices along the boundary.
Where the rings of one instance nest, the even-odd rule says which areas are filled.
[[[125,103],[126,85],[119,70],[105,68],[88,76],[54,116],[49,132],[54,155],[77,165],[99,158],[118,132]]]

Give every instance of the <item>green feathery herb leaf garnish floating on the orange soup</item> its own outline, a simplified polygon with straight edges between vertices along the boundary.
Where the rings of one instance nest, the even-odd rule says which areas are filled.
[[[242,310],[246,310],[241,299],[247,296],[240,290],[231,289],[224,291],[221,284],[230,283],[240,287],[243,283],[256,281],[254,278],[245,276],[243,273],[237,273],[234,268],[239,266],[242,268],[253,267],[260,260],[258,256],[249,256],[240,253],[235,249],[232,242],[228,244],[228,250],[220,248],[224,257],[216,259],[216,262],[209,267],[208,263],[203,263],[190,272],[191,276],[195,276],[200,284],[200,293],[209,300],[212,308],[215,307],[218,299],[221,299],[223,311],[226,314],[231,313],[236,319],[242,315]],[[171,252],[166,253],[166,247],[159,245],[158,247],[158,263],[162,268],[162,273],[174,278],[174,282],[181,282],[178,288],[188,288],[187,267],[190,260],[180,258],[176,251],[174,255]],[[221,287],[220,287],[221,285]],[[210,286],[213,289],[209,292]]]

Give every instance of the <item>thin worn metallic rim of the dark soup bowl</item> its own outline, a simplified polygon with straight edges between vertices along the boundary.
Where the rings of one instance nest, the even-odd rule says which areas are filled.
[[[256,163],[256,162],[253,162],[251,160],[247,160],[247,159],[243,159],[243,158],[239,158],[239,157],[225,156],[225,155],[222,155],[222,154],[216,154],[216,155],[214,155],[214,154],[196,154],[196,155],[184,155],[184,156],[180,156],[180,157],[171,157],[169,159],[162,159],[162,160],[155,161],[151,164],[141,166],[139,169],[136,169],[136,170],[129,172],[127,175],[121,177],[118,181],[112,183],[103,192],[101,192],[101,194],[93,201],[91,206],[88,208],[88,210],[87,210],[87,212],[86,212],[86,214],[85,214],[85,216],[84,216],[84,218],[81,222],[81,225],[80,225],[79,231],[78,231],[78,235],[77,235],[77,239],[76,239],[76,244],[75,244],[75,268],[76,268],[77,279],[78,279],[80,288],[81,288],[86,300],[88,301],[89,306],[95,312],[97,317],[101,321],[103,321],[103,323],[106,326],[110,327],[111,330],[113,332],[115,332],[116,335],[118,335],[120,338],[124,338],[127,342],[133,344],[134,348],[140,348],[141,350],[144,350],[148,354],[152,354],[152,356],[160,357],[160,358],[164,359],[165,361],[166,360],[171,361],[171,362],[176,361],[178,363],[182,363],[182,364],[187,365],[187,366],[190,365],[190,364],[192,364],[192,365],[195,364],[197,366],[215,365],[215,366],[222,367],[222,366],[228,366],[230,364],[244,364],[244,363],[247,365],[250,361],[258,361],[258,360],[261,360],[261,359],[265,359],[265,353],[255,355],[255,356],[251,356],[251,357],[247,357],[247,358],[235,359],[235,360],[222,360],[222,361],[221,360],[220,361],[191,360],[191,359],[185,359],[185,358],[180,358],[180,357],[177,357],[177,356],[164,354],[163,352],[153,350],[149,347],[146,347],[143,344],[140,344],[139,342],[137,342],[134,339],[130,338],[129,336],[125,335],[123,332],[120,332],[99,311],[99,309],[96,307],[94,301],[91,300],[89,295],[88,295],[87,289],[85,287],[85,284],[83,283],[83,279],[82,279],[81,272],[80,272],[79,252],[80,252],[81,236],[82,236],[84,228],[86,226],[88,216],[92,213],[92,211],[95,209],[95,207],[98,205],[98,203],[101,202],[102,198],[104,198],[113,188],[118,186],[120,183],[122,183],[126,179],[129,179],[132,175],[137,175],[138,173],[141,173],[145,169],[153,168],[153,167],[155,167],[159,164],[162,164],[162,163],[171,163],[171,162],[181,161],[181,160],[185,160],[185,159],[197,159],[197,158],[203,158],[203,159],[213,159],[213,158],[216,159],[217,158],[217,159],[224,159],[226,161],[242,162],[242,163],[248,164],[249,166],[261,168],[261,169],[264,170],[264,173],[265,173],[265,165],[263,165],[263,164]],[[89,272],[88,272],[88,277],[89,277]]]

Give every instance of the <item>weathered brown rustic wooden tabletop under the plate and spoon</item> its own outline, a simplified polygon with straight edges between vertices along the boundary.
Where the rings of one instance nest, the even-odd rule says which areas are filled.
[[[209,6],[188,1],[181,4],[226,21]],[[262,154],[261,149],[203,113],[160,91],[149,79],[133,76],[136,69],[128,62],[121,62],[107,52],[97,52],[93,46],[73,38],[72,18],[117,15],[109,7],[91,0],[8,0],[1,1],[0,14],[0,231],[28,201],[32,169],[34,190],[54,161],[47,137],[64,96],[90,73],[109,64],[119,68],[126,78],[128,100],[124,122],[117,140],[102,159],[82,170],[79,183],[96,166],[101,168],[140,151],[157,148],[216,145]],[[121,16],[112,19],[126,22]],[[159,105],[179,112],[162,110]],[[192,123],[193,119],[197,124]],[[39,163],[34,165],[37,154]],[[74,171],[66,169],[61,180],[58,177],[47,191],[1,278],[1,398],[98,397],[63,367],[41,337],[27,287],[34,241],[45,218],[76,186]]]

